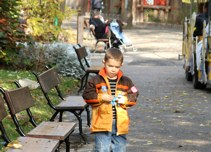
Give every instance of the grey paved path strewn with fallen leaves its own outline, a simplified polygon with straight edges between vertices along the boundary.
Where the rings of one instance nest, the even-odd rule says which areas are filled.
[[[182,30],[159,26],[137,27],[125,34],[137,48],[125,52],[123,72],[140,90],[131,117],[127,151],[130,152],[209,152],[211,151],[211,89],[194,90],[187,82],[178,54]],[[103,53],[94,54],[99,62]],[[89,144],[81,144],[77,133],[71,151],[88,152],[93,137],[84,128]]]

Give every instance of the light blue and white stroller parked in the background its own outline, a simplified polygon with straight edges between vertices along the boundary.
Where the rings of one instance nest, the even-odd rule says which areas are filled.
[[[131,41],[124,35],[122,31],[122,23],[120,20],[113,19],[109,24],[111,47],[119,48],[125,51],[128,48],[135,50]]]

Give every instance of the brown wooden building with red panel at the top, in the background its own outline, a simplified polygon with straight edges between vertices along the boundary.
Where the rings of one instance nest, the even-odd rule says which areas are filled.
[[[90,12],[92,0],[66,0],[66,4],[81,11]],[[190,11],[182,0],[102,0],[105,18],[120,18],[128,25],[145,22],[182,24]],[[88,14],[86,13],[86,14]]]

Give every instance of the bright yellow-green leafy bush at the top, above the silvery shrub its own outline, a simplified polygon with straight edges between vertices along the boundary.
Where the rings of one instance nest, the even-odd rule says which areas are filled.
[[[22,0],[28,32],[36,42],[58,40],[62,21],[75,13],[69,7],[61,8],[63,3],[64,0]]]

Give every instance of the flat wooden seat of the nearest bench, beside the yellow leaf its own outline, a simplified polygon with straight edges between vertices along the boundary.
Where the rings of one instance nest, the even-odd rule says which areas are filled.
[[[9,148],[6,152],[54,152],[59,146],[59,140],[19,137],[21,148]]]

